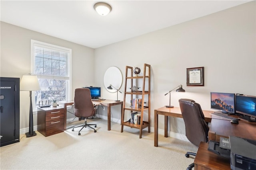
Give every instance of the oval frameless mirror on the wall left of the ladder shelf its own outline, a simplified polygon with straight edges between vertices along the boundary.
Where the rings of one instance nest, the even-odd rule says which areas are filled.
[[[114,93],[122,86],[122,73],[116,66],[109,67],[104,74],[104,86],[108,92]],[[108,87],[112,89],[108,89]]]

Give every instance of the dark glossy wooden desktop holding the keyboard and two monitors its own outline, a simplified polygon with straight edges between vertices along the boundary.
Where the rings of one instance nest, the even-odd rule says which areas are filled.
[[[220,141],[220,137],[236,136],[256,140],[256,123],[240,120],[238,124],[230,123],[230,120],[212,119],[208,132],[208,139]]]

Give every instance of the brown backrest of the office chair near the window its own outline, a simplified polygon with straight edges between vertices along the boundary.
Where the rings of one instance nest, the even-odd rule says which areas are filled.
[[[90,117],[95,113],[90,89],[76,88],[74,97],[74,113],[76,117]]]

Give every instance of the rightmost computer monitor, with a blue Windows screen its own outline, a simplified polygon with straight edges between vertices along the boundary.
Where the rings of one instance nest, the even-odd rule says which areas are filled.
[[[245,121],[256,121],[256,96],[236,95],[236,113]]]

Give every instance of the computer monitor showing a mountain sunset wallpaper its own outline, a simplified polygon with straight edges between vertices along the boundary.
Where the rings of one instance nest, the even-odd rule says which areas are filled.
[[[211,109],[216,109],[217,113],[234,114],[235,113],[235,94],[211,92]]]

